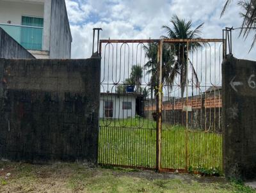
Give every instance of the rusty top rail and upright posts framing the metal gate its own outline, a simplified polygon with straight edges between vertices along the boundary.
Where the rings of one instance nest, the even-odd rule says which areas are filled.
[[[158,93],[156,95],[156,113],[157,113],[157,124],[156,124],[156,170],[161,172],[174,172],[175,169],[163,168],[161,167],[161,133],[162,133],[162,111],[163,111],[163,82],[162,82],[162,68],[163,68],[163,45],[164,43],[186,43],[187,45],[187,54],[189,53],[189,43],[198,42],[198,43],[223,43],[223,58],[226,53],[227,40],[224,39],[149,39],[149,40],[100,40],[99,41],[99,54],[101,56],[102,52],[102,43],[158,43],[157,49],[157,77],[158,77]],[[189,58],[187,57],[187,63]],[[188,72],[188,65],[186,67]],[[188,105],[188,73],[186,73],[186,105]],[[179,173],[188,173],[188,108],[186,108],[186,167],[185,169],[179,169]],[[132,167],[132,166],[120,166],[127,168],[140,168],[148,169],[145,167]]]

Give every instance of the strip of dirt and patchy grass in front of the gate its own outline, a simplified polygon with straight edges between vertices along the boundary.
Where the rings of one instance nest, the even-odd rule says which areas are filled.
[[[223,177],[0,161],[0,192],[256,192]]]

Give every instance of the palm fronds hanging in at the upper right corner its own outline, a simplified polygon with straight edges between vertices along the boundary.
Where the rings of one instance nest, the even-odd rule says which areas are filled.
[[[221,12],[221,17],[224,15],[227,7],[232,2],[232,0],[227,0],[223,10]],[[240,0],[237,3],[242,11],[239,13],[240,16],[243,18],[243,22],[240,27],[239,36],[243,34],[244,38],[247,38],[251,32],[255,32],[253,42],[251,45],[250,50],[252,50],[253,46],[256,43],[256,0]],[[249,52],[250,52],[249,50]]]

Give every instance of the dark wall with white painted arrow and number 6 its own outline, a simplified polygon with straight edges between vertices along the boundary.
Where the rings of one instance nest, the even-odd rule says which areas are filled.
[[[256,61],[222,64],[223,166],[227,177],[256,178]]]

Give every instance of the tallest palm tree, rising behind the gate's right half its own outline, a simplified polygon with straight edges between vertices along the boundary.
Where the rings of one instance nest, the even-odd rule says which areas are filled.
[[[192,21],[189,20],[186,22],[184,19],[179,19],[177,15],[174,15],[170,20],[172,27],[163,26],[163,29],[166,30],[167,36],[161,36],[162,38],[170,38],[170,39],[195,39],[200,38],[202,34],[202,26],[204,23],[197,26],[195,29],[191,29]],[[201,47],[200,43],[189,43],[188,50],[193,51]],[[184,95],[184,89],[186,85],[186,77],[187,77],[187,65],[191,66],[193,77],[196,79],[196,84],[198,84],[198,78],[195,72],[195,68],[193,64],[189,61],[188,63],[188,53],[187,53],[187,45],[186,43],[175,43],[174,44],[174,54],[177,57],[175,63],[172,66],[172,70],[170,71],[170,75],[168,76],[168,82],[170,85],[173,84],[175,77],[180,75],[180,88],[181,88],[181,96]]]

